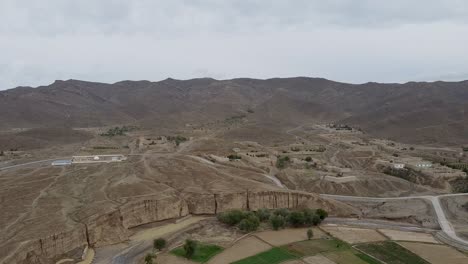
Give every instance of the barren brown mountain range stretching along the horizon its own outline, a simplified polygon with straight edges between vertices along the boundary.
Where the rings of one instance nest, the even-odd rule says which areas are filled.
[[[338,122],[414,143],[466,143],[468,81],[345,84],[319,78],[56,81],[0,92],[0,128],[144,127],[209,123],[249,114],[285,129]]]

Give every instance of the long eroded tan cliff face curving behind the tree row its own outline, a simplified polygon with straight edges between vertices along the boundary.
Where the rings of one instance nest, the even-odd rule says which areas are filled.
[[[297,191],[245,191],[237,193],[184,193],[181,197],[145,197],[115,210],[95,215],[71,231],[24,242],[2,263],[53,263],[57,257],[89,245],[100,247],[129,238],[132,227],[176,219],[188,214],[214,215],[230,209],[324,208],[332,215],[356,213],[349,206],[327,201],[318,195]]]

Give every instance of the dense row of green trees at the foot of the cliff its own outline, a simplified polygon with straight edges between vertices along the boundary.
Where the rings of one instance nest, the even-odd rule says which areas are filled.
[[[218,220],[230,226],[237,226],[245,232],[257,230],[262,222],[268,222],[274,230],[279,230],[287,226],[303,227],[316,226],[326,217],[327,211],[323,209],[260,209],[256,212],[242,211],[238,209],[226,211],[218,214]]]

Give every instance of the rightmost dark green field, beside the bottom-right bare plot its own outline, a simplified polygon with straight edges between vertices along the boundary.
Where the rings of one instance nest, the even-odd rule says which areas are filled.
[[[357,248],[388,264],[429,264],[418,255],[390,241],[361,244]]]

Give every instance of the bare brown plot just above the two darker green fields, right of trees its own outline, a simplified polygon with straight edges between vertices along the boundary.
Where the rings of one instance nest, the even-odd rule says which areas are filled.
[[[374,229],[362,229],[334,225],[326,225],[322,226],[322,228],[323,230],[332,234],[332,236],[351,244],[387,240],[383,235]]]

